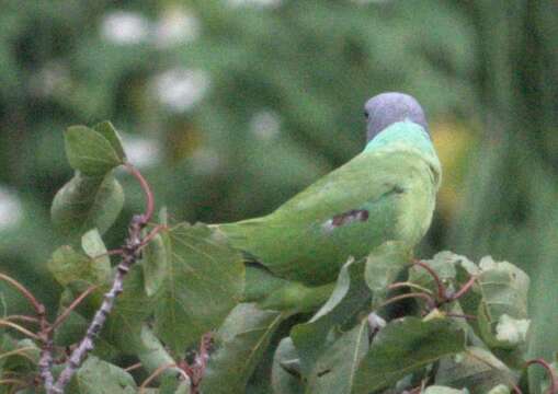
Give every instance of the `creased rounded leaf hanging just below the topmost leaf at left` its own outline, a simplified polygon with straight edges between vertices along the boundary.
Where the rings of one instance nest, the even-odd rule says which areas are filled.
[[[112,173],[86,176],[79,172],[56,194],[53,223],[65,235],[81,235],[96,228],[103,234],[124,205],[124,190]]]

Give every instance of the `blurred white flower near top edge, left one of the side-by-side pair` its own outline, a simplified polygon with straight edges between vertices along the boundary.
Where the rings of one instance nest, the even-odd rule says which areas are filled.
[[[137,12],[114,11],[101,22],[101,35],[118,45],[139,44],[149,38],[149,21]]]

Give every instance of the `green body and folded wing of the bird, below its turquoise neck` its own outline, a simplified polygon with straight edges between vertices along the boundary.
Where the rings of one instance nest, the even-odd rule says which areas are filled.
[[[414,246],[430,225],[439,179],[437,158],[411,146],[365,151],[273,213],[219,229],[276,276],[322,285],[349,256],[385,241]]]

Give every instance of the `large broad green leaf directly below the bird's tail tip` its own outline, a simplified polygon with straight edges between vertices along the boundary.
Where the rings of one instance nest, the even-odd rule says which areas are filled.
[[[157,297],[155,331],[173,350],[214,328],[240,302],[244,264],[240,252],[204,224],[161,231],[167,274]]]

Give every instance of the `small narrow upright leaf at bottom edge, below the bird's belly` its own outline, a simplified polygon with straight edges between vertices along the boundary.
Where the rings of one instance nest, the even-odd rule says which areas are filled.
[[[303,394],[300,360],[291,337],[283,338],[273,355],[271,385],[275,394]]]

